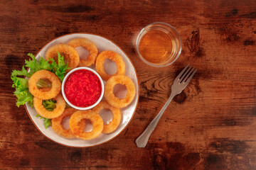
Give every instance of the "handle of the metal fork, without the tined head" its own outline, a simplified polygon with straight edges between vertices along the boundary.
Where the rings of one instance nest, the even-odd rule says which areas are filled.
[[[168,98],[168,100],[164,104],[164,107],[161,108],[161,111],[159,111],[156,117],[151,121],[151,123],[149,123],[149,125],[146,127],[144,132],[142,132],[142,134],[139,135],[139,137],[137,137],[137,140],[135,140],[137,147],[146,147],[146,144],[149,140],[151,133],[156,128],[156,125],[157,123],[159,123],[161,116],[164,114],[164,111],[166,110],[167,106],[169,106],[169,103],[171,102],[171,100],[174,98],[175,95],[176,94],[171,93],[171,96]]]

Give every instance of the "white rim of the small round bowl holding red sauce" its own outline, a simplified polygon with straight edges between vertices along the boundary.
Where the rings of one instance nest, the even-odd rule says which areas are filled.
[[[100,84],[101,84],[101,87],[102,87],[102,91],[101,91],[101,94],[100,94],[100,98],[91,106],[87,106],[85,108],[82,108],[82,107],[79,107],[79,106],[75,106],[73,105],[72,103],[70,103],[70,101],[68,101],[68,98],[65,96],[65,91],[64,91],[64,87],[65,87],[65,81],[68,79],[68,77],[70,76],[70,74],[72,74],[73,72],[77,71],[77,70],[80,70],[80,69],[86,69],[92,73],[94,73],[99,79],[100,79]],[[99,74],[97,74],[97,72],[95,72],[95,70],[93,69],[90,69],[88,67],[78,67],[78,68],[75,68],[75,69],[72,69],[70,72],[68,72],[68,74],[65,75],[64,79],[63,79],[63,83],[62,83],[62,86],[61,86],[61,91],[62,91],[62,94],[63,94],[63,98],[65,99],[65,101],[68,103],[69,106],[73,107],[73,108],[76,108],[78,110],[88,110],[88,109],[91,109],[95,106],[97,106],[98,103],[100,103],[100,101],[102,100],[102,97],[104,95],[104,83],[103,83],[103,80],[102,78],[100,77]]]

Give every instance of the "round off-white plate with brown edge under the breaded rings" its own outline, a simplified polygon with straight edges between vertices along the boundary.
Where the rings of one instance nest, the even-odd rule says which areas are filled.
[[[65,139],[64,137],[60,137],[59,135],[57,135],[53,131],[51,126],[48,127],[47,129],[44,128],[43,120],[40,118],[36,118],[37,113],[35,108],[31,108],[30,106],[28,106],[28,104],[26,104],[26,110],[33,124],[36,125],[36,128],[38,128],[38,130],[41,133],[43,133],[43,135],[48,137],[50,140],[53,140],[54,142],[57,142],[60,145],[65,145],[69,147],[92,147],[95,145],[100,145],[102,143],[108,142],[112,140],[114,137],[117,137],[117,135],[119,135],[122,132],[122,130],[124,130],[124,128],[126,128],[129,122],[132,120],[132,117],[137,108],[137,103],[139,101],[139,85],[138,85],[137,73],[136,73],[136,70],[134,69],[134,65],[132,64],[131,60],[129,60],[129,57],[127,57],[124,51],[120,47],[115,45],[114,42],[107,40],[106,38],[103,38],[101,36],[87,34],[87,33],[73,33],[69,35],[63,35],[59,38],[55,38],[54,40],[48,42],[48,44],[38,52],[38,54],[36,55],[36,58],[37,59],[39,59],[39,57],[45,58],[46,51],[48,50],[49,47],[58,43],[67,43],[69,40],[72,40],[73,38],[87,38],[95,43],[99,52],[102,52],[104,50],[112,50],[114,52],[117,52],[119,55],[123,57],[123,60],[125,62],[125,67],[126,67],[125,74],[128,77],[130,77],[132,81],[134,81],[134,84],[136,86],[136,95],[132,103],[129,104],[129,106],[121,109],[122,120],[119,127],[114,132],[107,135],[101,134],[99,137],[95,138],[94,140],[80,140],[78,138]],[[78,53],[80,54],[80,52]],[[95,67],[91,67],[91,68],[95,69]]]

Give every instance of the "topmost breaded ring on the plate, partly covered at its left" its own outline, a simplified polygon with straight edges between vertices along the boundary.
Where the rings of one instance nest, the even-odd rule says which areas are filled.
[[[84,47],[85,50],[90,52],[90,55],[88,55],[86,60],[83,60],[83,59],[80,60],[80,62],[78,64],[80,67],[82,67],[82,66],[88,67],[92,64],[95,64],[95,60],[98,55],[98,50],[97,50],[96,45],[92,41],[90,41],[86,38],[75,38],[73,40],[70,40],[68,42],[68,45],[70,45],[74,48]]]

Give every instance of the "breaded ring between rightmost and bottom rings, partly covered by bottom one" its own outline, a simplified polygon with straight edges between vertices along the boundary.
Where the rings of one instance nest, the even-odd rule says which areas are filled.
[[[104,128],[102,130],[103,133],[111,133],[114,132],[114,130],[117,129],[117,127],[120,124],[122,115],[121,115],[121,111],[119,108],[114,108],[112,106],[110,106],[107,101],[101,101],[97,106],[95,106],[94,108],[92,108],[92,111],[94,111],[95,113],[99,114],[100,111],[102,109],[110,109],[110,111],[113,114],[113,118],[111,120],[111,122],[109,124],[105,124]]]

